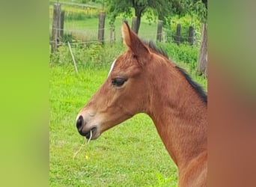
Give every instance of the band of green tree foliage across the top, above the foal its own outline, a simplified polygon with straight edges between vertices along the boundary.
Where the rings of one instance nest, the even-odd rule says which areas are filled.
[[[171,16],[174,14],[183,16],[189,13],[205,20],[207,10],[203,1],[207,4],[207,0],[106,0],[106,6],[111,23],[115,22],[116,16],[121,14],[124,18],[137,16],[139,29],[141,16],[145,12],[147,12],[147,19],[157,16],[164,25],[170,24]]]

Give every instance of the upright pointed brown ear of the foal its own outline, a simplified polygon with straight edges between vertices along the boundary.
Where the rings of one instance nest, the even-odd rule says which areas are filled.
[[[124,44],[131,49],[134,55],[138,58],[145,55],[150,55],[150,50],[142,43],[138,36],[130,30],[127,22],[122,25],[122,37]]]

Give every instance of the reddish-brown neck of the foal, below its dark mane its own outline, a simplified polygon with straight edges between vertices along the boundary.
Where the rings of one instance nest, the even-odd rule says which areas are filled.
[[[207,149],[207,105],[171,66],[162,66],[159,73],[150,68],[157,76],[150,80],[147,114],[180,169]]]

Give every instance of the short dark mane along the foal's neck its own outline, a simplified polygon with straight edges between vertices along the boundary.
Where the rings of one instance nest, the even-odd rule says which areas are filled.
[[[157,47],[152,41],[143,41],[143,43],[149,46],[150,49],[153,49],[153,52],[156,52],[157,54],[160,54],[160,55],[164,55],[166,58],[168,58],[167,52],[164,49],[162,49],[162,47]],[[181,75],[185,77],[189,85],[191,85],[191,87],[198,94],[201,100],[207,105],[207,93],[204,92],[204,89],[201,87],[201,85],[198,85],[197,82],[194,82],[192,78],[189,76],[189,74],[186,73],[186,70],[184,70],[183,68],[178,67],[177,65],[175,66],[175,68],[179,70]]]

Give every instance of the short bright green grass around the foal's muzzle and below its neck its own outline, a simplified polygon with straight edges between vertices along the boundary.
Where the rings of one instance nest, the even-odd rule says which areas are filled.
[[[72,64],[49,67],[50,186],[177,186],[177,168],[146,114],[83,144],[76,115],[108,72],[79,68],[76,74]]]

